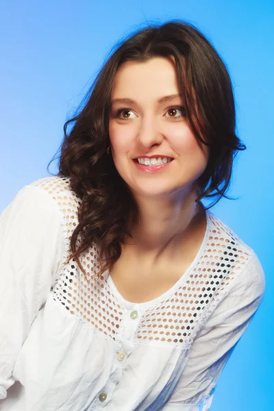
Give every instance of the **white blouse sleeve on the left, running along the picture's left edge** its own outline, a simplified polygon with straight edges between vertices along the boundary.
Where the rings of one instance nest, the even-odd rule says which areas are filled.
[[[62,263],[63,233],[62,212],[37,186],[22,188],[0,214],[0,399]]]

